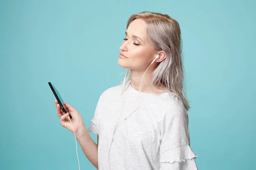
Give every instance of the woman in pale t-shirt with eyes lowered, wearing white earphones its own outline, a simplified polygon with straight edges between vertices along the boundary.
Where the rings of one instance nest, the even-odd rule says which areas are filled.
[[[102,170],[197,170],[190,148],[189,103],[183,93],[180,27],[168,15],[133,14],[120,46],[124,81],[99,97],[91,124],[71,105],[61,125],[73,131],[85,156]],[[98,144],[88,132],[98,134]]]

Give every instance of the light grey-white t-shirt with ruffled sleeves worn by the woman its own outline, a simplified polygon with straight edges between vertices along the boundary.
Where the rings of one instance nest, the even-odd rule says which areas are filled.
[[[119,85],[102,93],[88,127],[99,135],[99,170],[110,145],[102,170],[197,170],[183,103],[172,93],[140,92],[137,108],[139,92],[130,82],[122,97]]]

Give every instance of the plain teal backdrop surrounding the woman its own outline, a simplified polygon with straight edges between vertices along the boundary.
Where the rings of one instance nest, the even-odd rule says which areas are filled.
[[[253,0],[1,0],[0,169],[78,169],[48,82],[88,127],[100,94],[124,76],[128,17],[154,11],[180,23],[198,169],[255,170],[255,9]],[[95,169],[78,152],[81,170]]]

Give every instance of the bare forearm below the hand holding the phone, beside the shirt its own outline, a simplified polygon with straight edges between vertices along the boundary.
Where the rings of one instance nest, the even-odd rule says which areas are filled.
[[[84,126],[79,132],[79,136],[76,137],[79,142],[84,155],[87,159],[98,169],[98,144],[96,144],[93,139],[90,137],[87,128]],[[99,143],[99,136],[98,136]]]

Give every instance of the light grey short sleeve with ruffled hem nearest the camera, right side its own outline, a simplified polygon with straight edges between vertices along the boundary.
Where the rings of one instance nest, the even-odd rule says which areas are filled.
[[[160,139],[160,170],[197,170],[198,156],[190,148],[188,115],[183,105],[166,113]]]

